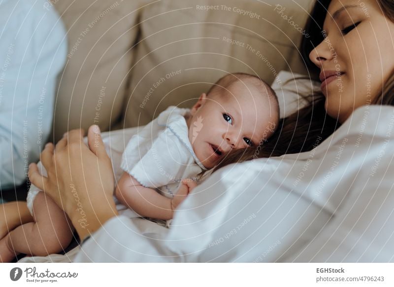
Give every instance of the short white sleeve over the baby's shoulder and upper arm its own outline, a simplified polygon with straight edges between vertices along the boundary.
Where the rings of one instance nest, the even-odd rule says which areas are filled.
[[[158,188],[182,174],[189,160],[185,149],[168,129],[155,139],[136,135],[122,155],[121,168],[143,186]]]

